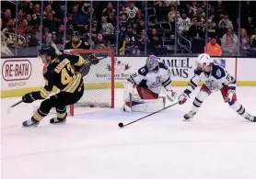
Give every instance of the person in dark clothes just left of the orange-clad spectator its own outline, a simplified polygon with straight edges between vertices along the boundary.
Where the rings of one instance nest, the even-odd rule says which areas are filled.
[[[194,20],[192,27],[189,29],[189,37],[192,43],[192,52],[200,53],[203,52],[204,35],[203,28],[199,26],[197,20]]]

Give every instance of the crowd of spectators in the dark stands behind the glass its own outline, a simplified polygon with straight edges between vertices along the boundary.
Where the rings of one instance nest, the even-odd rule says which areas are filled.
[[[192,48],[188,53],[206,51],[216,56],[253,56],[256,50],[253,6],[256,5],[247,3],[242,2],[239,17],[239,3],[235,1],[209,1],[209,6],[206,1],[93,1],[92,8],[90,1],[68,1],[64,18],[64,1],[44,1],[41,13],[41,1],[27,0],[19,1],[16,19],[15,5],[2,1],[1,30],[8,46],[15,44],[13,34],[17,20],[20,35],[17,45],[23,48],[38,47],[42,43],[64,44],[64,39],[70,40],[76,31],[81,39],[91,39],[92,49],[115,49],[118,41],[119,55],[142,55],[145,48],[147,53],[166,54],[170,53],[169,48],[159,28],[159,21],[165,20],[171,26],[170,37],[176,31],[179,37],[190,41]],[[154,13],[150,9],[155,9]],[[155,25],[145,27],[152,15]]]

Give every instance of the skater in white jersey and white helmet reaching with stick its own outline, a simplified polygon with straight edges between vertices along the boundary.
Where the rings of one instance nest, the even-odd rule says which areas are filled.
[[[183,94],[178,98],[180,105],[187,101],[189,95],[201,80],[204,81],[204,84],[192,103],[192,110],[184,116],[185,119],[194,117],[200,106],[202,106],[204,100],[213,92],[220,90],[224,101],[228,103],[232,109],[234,109],[241,117],[256,122],[256,117],[248,114],[245,108],[239,104],[236,95],[237,82],[233,76],[227,73],[227,71],[220,65],[211,62],[210,56],[206,53],[200,54],[196,63],[194,76]]]

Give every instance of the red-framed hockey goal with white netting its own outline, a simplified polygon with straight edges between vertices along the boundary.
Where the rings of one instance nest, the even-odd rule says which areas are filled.
[[[70,115],[76,114],[76,107],[114,107],[114,51],[113,50],[71,50],[88,62],[79,69],[83,75],[85,92],[81,99],[70,106]],[[93,64],[93,58],[99,63]]]

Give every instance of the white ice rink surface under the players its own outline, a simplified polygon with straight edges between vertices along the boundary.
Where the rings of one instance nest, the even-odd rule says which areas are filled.
[[[174,88],[178,94],[183,87]],[[239,102],[256,115],[256,87],[238,87]],[[183,121],[191,99],[119,129],[146,114],[124,113],[122,90],[116,108],[79,108],[64,125],[45,117],[24,129],[33,105],[7,106],[1,100],[1,176],[3,179],[255,179],[256,123],[223,102],[220,92],[205,100],[191,121]]]

